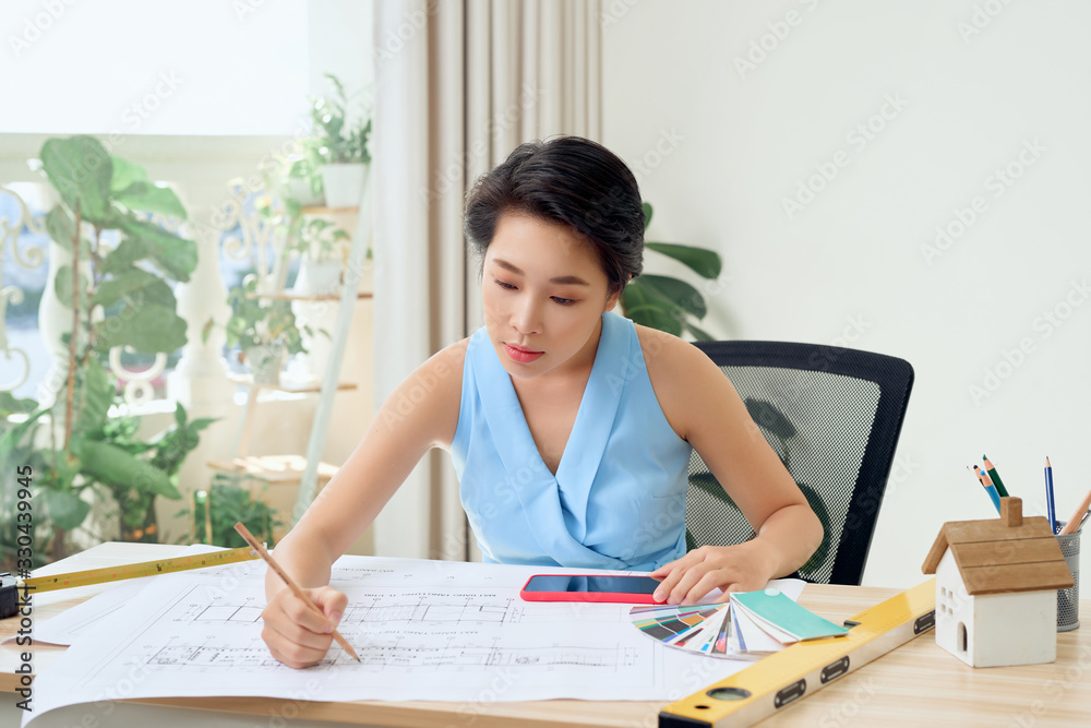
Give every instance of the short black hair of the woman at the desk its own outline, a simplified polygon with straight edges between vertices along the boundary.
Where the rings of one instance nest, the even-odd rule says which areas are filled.
[[[464,231],[484,252],[505,213],[564,225],[596,250],[611,293],[644,268],[644,206],[636,177],[601,144],[555,136],[520,144],[466,195]]]

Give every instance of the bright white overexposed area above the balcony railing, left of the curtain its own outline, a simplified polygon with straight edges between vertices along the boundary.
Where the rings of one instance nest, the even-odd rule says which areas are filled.
[[[323,73],[370,87],[371,5],[4,0],[0,133],[298,135]]]

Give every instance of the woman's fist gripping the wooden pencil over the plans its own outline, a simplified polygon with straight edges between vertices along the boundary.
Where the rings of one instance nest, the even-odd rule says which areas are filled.
[[[348,597],[332,586],[303,589],[322,616],[285,587],[276,593],[262,611],[262,640],[277,660],[296,669],[317,665],[329,644],[333,631],[345,613]]]

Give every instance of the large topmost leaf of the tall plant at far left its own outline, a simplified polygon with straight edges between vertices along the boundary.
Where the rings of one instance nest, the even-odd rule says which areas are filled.
[[[41,146],[41,167],[70,210],[74,212],[80,201],[83,219],[104,227],[116,218],[109,202],[113,164],[97,139],[47,140]]]

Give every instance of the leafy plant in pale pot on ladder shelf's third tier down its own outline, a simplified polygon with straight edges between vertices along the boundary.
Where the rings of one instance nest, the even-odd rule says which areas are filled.
[[[239,347],[240,359],[250,367],[254,382],[277,384],[288,355],[307,350],[291,305],[287,300],[259,295],[257,276],[254,274],[243,278],[241,285],[233,286],[228,291],[227,300],[231,306],[231,317],[225,326],[227,346]],[[208,339],[214,325],[212,319],[205,323],[202,331],[204,341]],[[308,335],[312,334],[309,327],[304,331]]]

